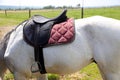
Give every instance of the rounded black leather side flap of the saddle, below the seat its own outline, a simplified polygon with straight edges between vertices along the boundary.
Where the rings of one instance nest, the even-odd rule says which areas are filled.
[[[52,26],[52,21],[40,26],[30,20],[23,29],[24,38],[32,46],[43,46],[48,42]]]

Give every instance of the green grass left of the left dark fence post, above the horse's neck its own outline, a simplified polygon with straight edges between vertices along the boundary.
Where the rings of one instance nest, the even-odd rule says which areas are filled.
[[[7,11],[7,16],[4,11],[0,11],[0,26],[17,25],[27,18],[27,11]]]

